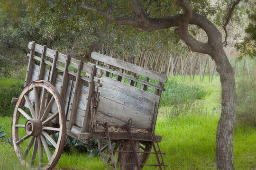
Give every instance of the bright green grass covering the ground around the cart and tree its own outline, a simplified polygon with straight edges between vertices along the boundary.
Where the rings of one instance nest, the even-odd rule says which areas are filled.
[[[187,79],[188,78],[188,79]],[[171,78],[170,78],[171,79]],[[190,77],[181,80],[186,85],[196,85],[209,92],[202,99],[196,101],[201,104],[193,105],[185,115],[173,116],[173,106],[164,106],[159,109],[155,133],[162,135],[160,142],[167,170],[211,170],[216,169],[215,137],[220,116],[220,82],[219,77],[214,77],[213,82],[200,82],[200,77],[195,76],[195,82],[190,82]],[[209,81],[209,79],[208,79]],[[196,108],[199,109],[196,109]],[[0,126],[10,136],[11,117],[0,117]],[[63,153],[56,165],[56,169],[75,170],[111,170],[101,161],[100,157],[87,158],[87,154],[72,151]],[[18,164],[13,149],[0,143],[0,169],[25,170]],[[14,162],[14,163],[13,163]],[[155,162],[151,155],[147,163]],[[242,124],[237,124],[234,131],[234,163],[237,170],[256,170],[256,129]],[[154,167],[145,167],[143,170],[156,170]]]

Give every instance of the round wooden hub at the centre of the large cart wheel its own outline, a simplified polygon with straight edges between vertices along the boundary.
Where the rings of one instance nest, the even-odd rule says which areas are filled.
[[[39,119],[27,120],[25,124],[25,131],[27,135],[39,136],[42,132],[42,122]]]

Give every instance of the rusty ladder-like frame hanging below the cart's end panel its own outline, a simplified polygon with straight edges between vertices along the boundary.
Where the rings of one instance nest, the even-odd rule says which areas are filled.
[[[135,139],[132,137],[132,134],[131,134],[131,130],[130,130],[131,125],[132,125],[132,119],[129,119],[128,123],[124,124],[123,126],[108,125],[108,122],[103,124],[106,137],[102,137],[102,139],[106,139],[107,143],[108,143],[108,148],[109,148],[108,153],[110,153],[110,160],[111,160],[111,164],[109,164],[109,165],[113,167],[113,170],[117,170],[117,165],[119,165],[119,166],[120,165],[137,166],[137,170],[141,170],[141,167],[143,167],[143,166],[156,166],[156,167],[158,166],[160,170],[165,170],[165,167],[167,167],[168,165],[166,165],[164,163],[163,154],[166,154],[166,153],[161,152],[159,144],[158,144],[156,136],[155,136],[154,129],[153,128],[146,129],[148,131],[149,139]],[[109,127],[119,127],[119,128],[126,129],[127,133],[128,133],[128,138],[110,137]],[[115,150],[115,148],[113,150],[111,147],[111,139],[112,140],[128,140],[129,144],[131,146],[131,151],[118,151],[118,150]],[[137,151],[134,141],[150,142],[152,144],[154,152]],[[155,146],[155,143],[156,143],[157,147]],[[114,153],[116,153],[116,152],[132,153],[136,163],[117,163],[114,159]],[[155,154],[157,164],[140,163],[137,153]],[[160,160],[160,158],[161,158],[161,160]]]

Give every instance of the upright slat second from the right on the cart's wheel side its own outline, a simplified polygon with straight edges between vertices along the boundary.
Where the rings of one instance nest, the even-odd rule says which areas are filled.
[[[71,126],[74,123],[74,119],[75,119],[75,113],[76,113],[76,109],[77,109],[77,105],[78,105],[78,101],[79,101],[79,95],[80,95],[80,75],[81,75],[81,71],[82,71],[82,60],[80,60],[80,64],[78,65],[78,70],[77,70],[77,74],[76,74],[76,79],[75,79],[75,85],[74,85],[74,95],[73,95],[73,102],[72,104],[72,109],[71,109],[71,114],[69,115],[69,123],[67,128],[70,129]]]

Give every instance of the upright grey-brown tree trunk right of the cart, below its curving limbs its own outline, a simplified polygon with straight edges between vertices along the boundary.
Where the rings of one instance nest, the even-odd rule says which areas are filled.
[[[235,170],[233,160],[233,131],[236,119],[236,88],[232,66],[223,50],[216,48],[215,60],[221,82],[221,116],[216,134],[217,170]]]

